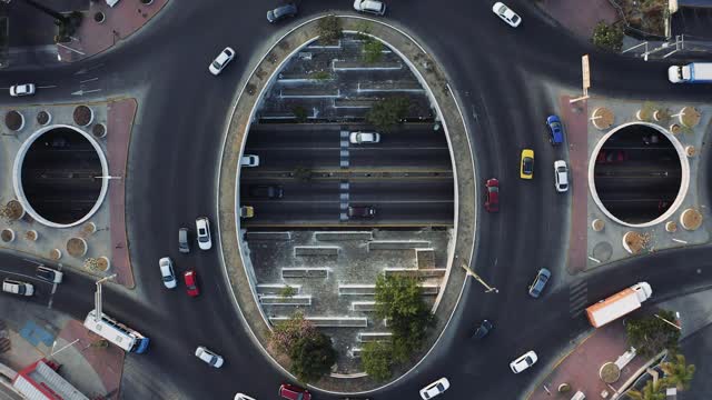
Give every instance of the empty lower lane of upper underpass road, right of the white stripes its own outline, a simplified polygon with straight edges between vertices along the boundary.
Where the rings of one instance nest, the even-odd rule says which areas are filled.
[[[358,147],[349,149],[350,168],[417,168],[422,170],[451,171],[453,161],[447,147]]]

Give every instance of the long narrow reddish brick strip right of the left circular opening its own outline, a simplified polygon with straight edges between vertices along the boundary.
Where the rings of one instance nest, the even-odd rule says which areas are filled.
[[[125,186],[131,128],[137,107],[135,99],[111,101],[107,114],[109,176],[121,177],[109,181],[111,268],[117,273],[115,281],[129,288],[132,288],[135,282],[126,233]]]

